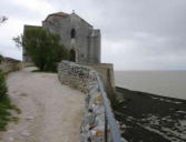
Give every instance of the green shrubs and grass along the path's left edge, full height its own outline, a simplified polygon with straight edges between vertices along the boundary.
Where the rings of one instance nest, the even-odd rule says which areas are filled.
[[[20,110],[12,105],[10,98],[7,94],[6,77],[0,71],[0,131],[4,131],[9,121],[18,121],[18,118],[11,115],[10,110],[20,113]]]

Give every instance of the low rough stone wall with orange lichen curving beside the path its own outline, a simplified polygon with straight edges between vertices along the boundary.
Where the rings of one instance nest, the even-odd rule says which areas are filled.
[[[62,61],[58,65],[61,83],[86,93],[85,115],[80,130],[80,142],[102,142],[105,132],[105,108],[98,89],[97,72],[86,65]],[[109,102],[109,101],[108,101]],[[111,142],[109,130],[108,142]]]

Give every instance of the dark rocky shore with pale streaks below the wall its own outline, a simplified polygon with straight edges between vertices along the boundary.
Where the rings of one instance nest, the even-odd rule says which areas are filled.
[[[186,141],[186,100],[117,88],[115,116],[128,142]]]

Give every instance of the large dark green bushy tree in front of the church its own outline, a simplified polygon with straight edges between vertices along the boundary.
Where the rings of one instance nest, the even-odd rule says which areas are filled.
[[[59,43],[59,36],[43,29],[30,29],[25,36],[13,38],[17,47],[22,45],[40,71],[57,70],[57,63],[69,60],[68,50]]]

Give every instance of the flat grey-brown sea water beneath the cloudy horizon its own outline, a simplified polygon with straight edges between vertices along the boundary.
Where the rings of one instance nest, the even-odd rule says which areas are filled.
[[[186,100],[186,71],[115,71],[117,87]]]

